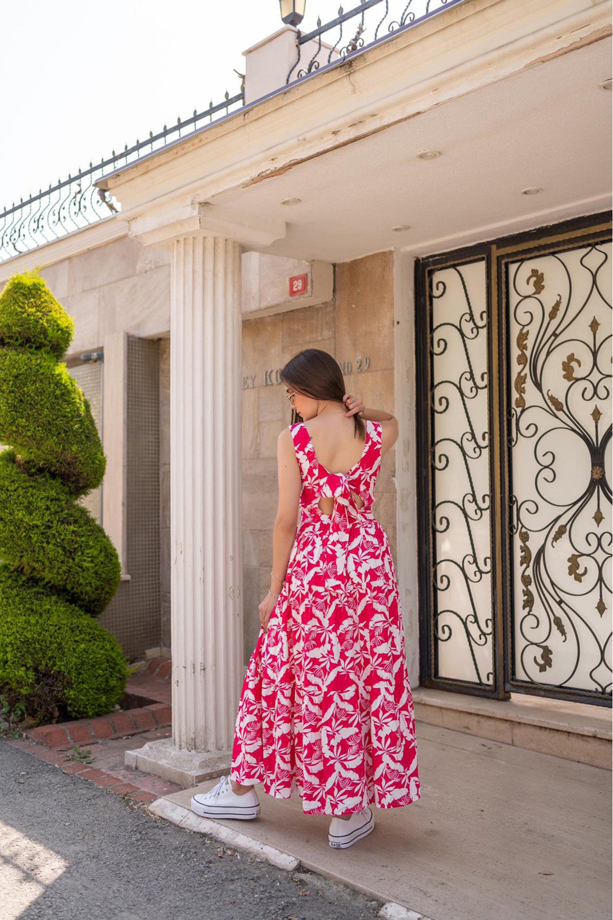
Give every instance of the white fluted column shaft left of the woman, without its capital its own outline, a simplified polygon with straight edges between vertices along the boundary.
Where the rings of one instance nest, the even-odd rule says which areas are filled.
[[[172,243],[173,743],[230,752],[242,668],[241,247]]]

